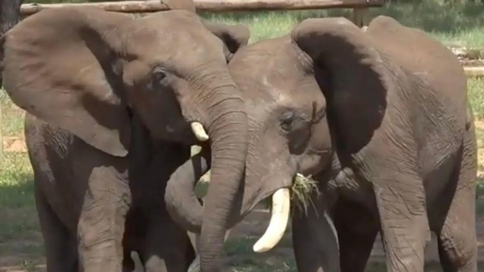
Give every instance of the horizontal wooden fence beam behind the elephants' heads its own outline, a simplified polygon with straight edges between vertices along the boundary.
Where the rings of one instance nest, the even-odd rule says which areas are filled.
[[[384,0],[195,0],[195,4],[199,12],[236,12],[380,7],[384,4]],[[28,16],[43,9],[67,6],[99,7],[107,11],[123,13],[149,13],[168,9],[159,0],[129,0],[96,3],[28,3],[20,7],[20,13]]]

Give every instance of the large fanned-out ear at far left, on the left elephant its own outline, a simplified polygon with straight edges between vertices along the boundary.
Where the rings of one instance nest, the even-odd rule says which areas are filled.
[[[3,83],[30,114],[91,146],[125,156],[131,124],[113,72],[113,31],[126,15],[97,8],[58,8],[27,17],[3,37]],[[121,30],[120,30],[121,31]]]

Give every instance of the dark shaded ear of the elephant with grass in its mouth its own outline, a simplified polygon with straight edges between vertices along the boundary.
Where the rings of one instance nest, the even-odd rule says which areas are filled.
[[[291,32],[292,41],[312,60],[328,101],[330,125],[338,149],[354,153],[363,148],[380,126],[386,94],[397,86],[397,66],[381,55],[365,33],[346,18],[310,18]]]

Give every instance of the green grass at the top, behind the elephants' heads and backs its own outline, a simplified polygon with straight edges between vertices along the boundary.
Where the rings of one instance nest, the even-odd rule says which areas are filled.
[[[470,47],[484,46],[484,4],[465,2],[452,5],[439,0],[388,3],[370,10],[371,16],[387,15],[402,24],[423,29],[445,42],[460,42]],[[251,42],[283,35],[298,22],[309,17],[345,16],[349,9],[203,14],[209,20],[243,23],[251,29]]]

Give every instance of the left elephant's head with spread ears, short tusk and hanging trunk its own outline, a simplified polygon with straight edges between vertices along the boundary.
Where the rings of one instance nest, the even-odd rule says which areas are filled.
[[[156,138],[209,140],[214,201],[206,216],[223,225],[247,150],[242,93],[227,59],[248,35],[185,10],[131,19],[97,8],[46,9],[0,38],[4,87],[17,106],[112,156],[129,156],[133,112]],[[218,227],[204,233],[224,238]]]

